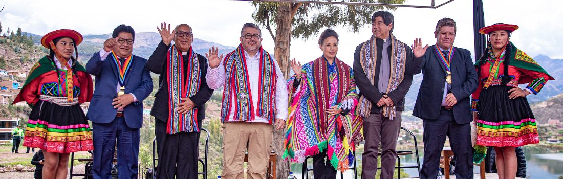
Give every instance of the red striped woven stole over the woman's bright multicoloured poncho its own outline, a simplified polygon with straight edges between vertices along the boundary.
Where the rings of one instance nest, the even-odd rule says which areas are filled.
[[[336,95],[336,101],[341,102],[342,99],[350,91],[350,69],[337,57],[334,57],[334,63],[336,63],[336,78],[338,78],[338,94]],[[314,90],[312,92],[317,102],[317,110],[315,113],[319,117],[319,129],[321,132],[325,133],[327,131],[327,120],[328,116],[326,110],[330,106],[330,83],[332,80],[329,79],[328,74],[328,63],[324,56],[319,57],[313,62],[312,73],[315,74],[314,80]]]

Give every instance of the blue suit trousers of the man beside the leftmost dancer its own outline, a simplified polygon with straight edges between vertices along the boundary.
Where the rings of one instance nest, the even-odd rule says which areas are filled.
[[[111,178],[111,164],[117,139],[118,178],[137,178],[140,129],[129,128],[124,117],[106,124],[92,123],[94,142],[93,178]]]

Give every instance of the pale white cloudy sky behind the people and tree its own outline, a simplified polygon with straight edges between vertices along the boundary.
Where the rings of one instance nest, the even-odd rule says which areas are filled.
[[[436,4],[446,0],[437,0]],[[238,46],[240,28],[252,22],[254,8],[248,1],[36,1],[0,0],[6,7],[0,12],[3,33],[21,27],[24,32],[44,35],[57,29],[74,29],[82,34],[107,34],[115,26],[127,24],[136,32],[157,32],[156,26],[166,21],[172,25],[187,23],[194,29],[194,37],[227,46]],[[431,0],[407,1],[409,5],[430,5]],[[437,9],[398,8],[394,34],[400,41],[412,44],[414,38],[434,44],[436,22],[450,17],[457,23],[454,46],[473,51],[472,0],[455,0]],[[534,57],[539,54],[563,59],[562,1],[544,0],[484,0],[485,25],[498,22],[517,24],[511,41]],[[333,27],[340,35],[337,57],[351,65],[355,47],[371,35],[370,25],[359,33],[347,32],[346,27]],[[262,45],[271,53],[274,42],[262,29]],[[275,33],[275,32],[274,32]],[[301,62],[321,55],[318,37],[293,39],[291,57]],[[559,42],[559,43],[558,43]]]

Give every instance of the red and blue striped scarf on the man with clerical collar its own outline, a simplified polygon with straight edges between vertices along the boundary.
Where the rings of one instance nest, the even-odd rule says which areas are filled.
[[[201,83],[201,70],[199,69],[198,56],[190,47],[189,65],[184,66],[184,58],[182,53],[176,49],[176,45],[172,45],[168,49],[168,68],[167,82],[169,105],[168,105],[168,123],[167,133],[175,134],[178,132],[199,132],[198,126],[198,109],[192,109],[185,114],[178,113],[178,104],[181,98],[191,97],[199,91]],[[187,68],[187,80],[184,79],[184,68]]]

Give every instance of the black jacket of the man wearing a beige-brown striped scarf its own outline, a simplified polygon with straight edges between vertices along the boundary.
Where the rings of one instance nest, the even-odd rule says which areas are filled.
[[[365,43],[365,42],[364,42]],[[361,47],[364,46],[364,43],[361,43],[358,47],[356,47],[356,51],[354,52],[354,81],[356,82],[356,86],[360,89],[359,96],[364,95],[369,101],[372,102],[372,110],[370,113],[379,113],[381,111],[381,107],[377,107],[377,102],[381,100],[385,93],[379,92],[378,83],[379,83],[379,68],[381,66],[381,55],[383,54],[383,39],[376,39],[377,43],[377,62],[376,62],[376,75],[373,78],[374,85],[368,79],[367,75],[363,68],[361,68],[360,64],[360,52]],[[410,84],[413,83],[413,73],[417,70],[418,66],[413,65],[413,51],[410,50],[410,47],[403,43],[403,46],[406,50],[406,59],[405,59],[405,75],[403,81],[397,86],[397,89],[391,91],[387,94],[393,101],[396,106],[396,111],[405,111],[405,95],[406,92],[409,92]],[[389,55],[388,59],[391,63],[391,46],[387,48],[387,54]]]

